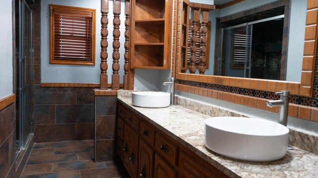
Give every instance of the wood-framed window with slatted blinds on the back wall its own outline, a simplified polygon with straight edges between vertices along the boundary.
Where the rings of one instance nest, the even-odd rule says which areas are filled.
[[[50,64],[95,65],[95,13],[50,4]]]

